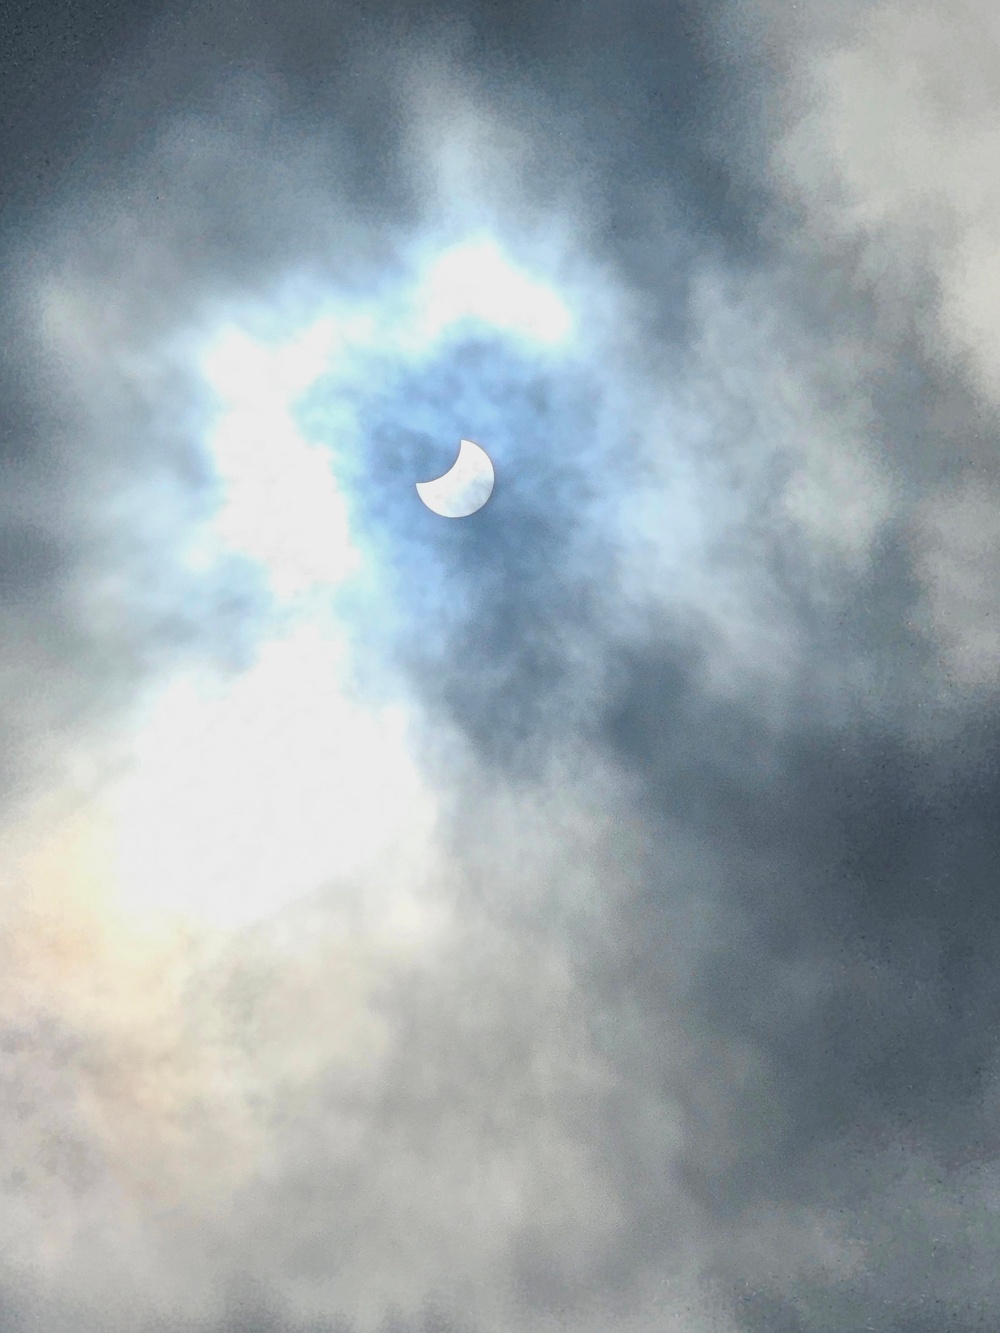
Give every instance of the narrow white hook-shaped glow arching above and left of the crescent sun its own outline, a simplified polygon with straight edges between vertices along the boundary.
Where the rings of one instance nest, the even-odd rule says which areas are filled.
[[[512,264],[495,241],[475,240],[425,263],[401,309],[372,303],[360,312],[313,316],[268,344],[239,325],[216,335],[200,357],[220,404],[207,441],[223,484],[213,543],[256,561],[279,599],[355,573],[360,553],[331,467],[331,441],[303,439],[295,401],[357,351],[421,356],[467,320],[540,347],[555,347],[572,331],[569,309],[552,287]]]

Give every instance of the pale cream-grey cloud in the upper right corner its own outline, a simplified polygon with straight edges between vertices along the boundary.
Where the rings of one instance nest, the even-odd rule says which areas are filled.
[[[996,100],[984,57],[996,44],[992,29],[992,13],[977,4],[947,13],[921,5],[905,15],[879,5],[853,37],[807,44],[795,83],[803,99],[808,89],[808,107],[775,153],[777,179],[801,209],[811,244],[855,251],[859,283],[877,303],[883,345],[895,343],[904,355],[909,336],[907,353],[936,381],[927,409],[939,428],[927,440],[917,420],[917,439],[900,439],[903,469],[923,473],[908,540],[944,668],[963,685],[988,688],[996,678],[988,631],[996,339],[984,300],[996,248],[985,169]],[[949,385],[963,381],[976,411],[948,421]],[[960,572],[969,569],[969,544],[981,557],[973,561],[975,588]],[[943,592],[959,584],[957,597]]]

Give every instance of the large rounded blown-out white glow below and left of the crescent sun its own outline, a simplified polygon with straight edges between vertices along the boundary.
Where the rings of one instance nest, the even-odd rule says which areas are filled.
[[[111,802],[129,906],[243,925],[393,853],[425,862],[435,809],[405,718],[352,704],[341,669],[304,627],[225,692],[163,694]]]

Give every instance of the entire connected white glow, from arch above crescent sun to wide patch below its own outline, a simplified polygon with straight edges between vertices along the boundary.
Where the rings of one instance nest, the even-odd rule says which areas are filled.
[[[404,933],[419,933],[407,885],[433,861],[436,802],[409,752],[405,713],[345,694],[343,627],[327,604],[361,565],[331,449],[343,441],[304,439],[295,405],[324,375],[340,377],[349,404],[364,389],[352,383],[357,352],[419,357],[468,319],[553,345],[571,319],[552,288],[492,241],[417,265],[392,300],[333,313],[317,301],[284,329],[280,304],[267,337],[249,332],[253,321],[231,321],[196,348],[217,403],[204,448],[220,504],[188,559],[252,561],[281,629],[235,682],[193,670],[149,701],[128,774],[93,806],[93,826],[129,912],[240,928],[377,868],[367,878],[395,885],[395,905],[379,908],[387,926],[399,918]],[[349,421],[345,407],[345,429]]]

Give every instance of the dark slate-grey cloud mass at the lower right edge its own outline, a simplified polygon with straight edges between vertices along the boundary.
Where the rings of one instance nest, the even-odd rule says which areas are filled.
[[[969,1160],[983,1168],[993,1154],[989,768],[956,774],[872,724],[775,745],[745,709],[705,706],[691,663],[647,665],[629,685],[616,740],[648,774],[661,817],[701,838],[712,865],[696,889],[712,929],[680,996],[660,936],[676,936],[669,838],[659,876],[608,945],[611,977],[627,957],[629,986],[644,997],[644,1080],[683,1106],[688,1189],[720,1229],[779,1198],[789,1210],[823,1200],[857,1209],[864,1236],[867,1214],[892,1217],[899,1205],[872,1192],[869,1172],[887,1169],[888,1145],[901,1138],[917,1214],[935,1192],[961,1197]],[[697,1034],[680,1078],[655,1054],[679,1008]],[[933,1240],[885,1224],[895,1237],[880,1244],[879,1264],[911,1274],[887,1326],[923,1300],[920,1274],[937,1248],[969,1244],[961,1233],[985,1222],[972,1214],[960,1234],[944,1228]],[[732,1253],[719,1262],[739,1273]],[[968,1264],[981,1282],[981,1248]],[[943,1276],[933,1281],[940,1294]],[[871,1317],[877,1289],[865,1274],[852,1318]]]

